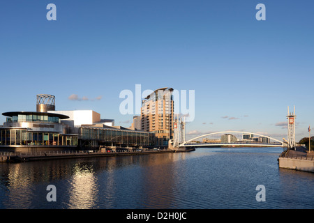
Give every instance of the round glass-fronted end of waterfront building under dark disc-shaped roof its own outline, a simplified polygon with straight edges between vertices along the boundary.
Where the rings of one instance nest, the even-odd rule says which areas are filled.
[[[47,112],[5,112],[0,128],[0,151],[38,151],[77,147],[77,134],[67,134],[61,114]]]

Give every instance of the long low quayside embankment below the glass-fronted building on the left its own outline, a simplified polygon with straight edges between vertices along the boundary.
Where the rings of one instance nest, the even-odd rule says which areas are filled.
[[[174,151],[171,149],[136,150],[136,151],[49,151],[38,153],[1,153],[0,162],[27,162],[36,160],[57,160],[86,157],[110,157],[121,155],[149,155],[160,153],[188,152],[193,150]]]

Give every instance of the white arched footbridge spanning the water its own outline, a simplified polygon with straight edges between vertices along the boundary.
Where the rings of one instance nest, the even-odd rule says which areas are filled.
[[[225,134],[225,137],[228,137],[231,135],[231,137],[234,135],[233,134],[251,134],[251,135],[257,135],[258,137],[266,138],[267,142],[265,141],[254,141],[252,139],[241,139],[241,140],[218,140],[218,139],[212,139],[212,140],[207,140],[207,141],[196,141],[196,139],[201,139],[204,137],[211,136],[213,134]],[[221,138],[223,139],[223,138]],[[272,140],[272,141],[271,141]],[[199,146],[204,146],[204,147],[215,147],[215,146],[250,146],[250,147],[284,147],[287,146],[285,141],[280,141],[278,139],[274,139],[269,136],[265,136],[262,134],[257,134],[253,132],[239,132],[239,131],[225,131],[225,132],[212,132],[209,134],[203,134],[198,137],[195,137],[193,139],[189,139],[188,141],[184,141],[184,143],[179,144],[179,147],[199,147]]]

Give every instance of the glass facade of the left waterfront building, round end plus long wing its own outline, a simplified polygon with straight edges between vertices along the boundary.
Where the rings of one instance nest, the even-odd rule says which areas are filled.
[[[0,128],[0,147],[40,148],[77,146],[154,146],[155,134],[125,128],[75,127],[63,114],[47,112],[5,112],[7,122]],[[71,134],[70,134],[71,133]]]

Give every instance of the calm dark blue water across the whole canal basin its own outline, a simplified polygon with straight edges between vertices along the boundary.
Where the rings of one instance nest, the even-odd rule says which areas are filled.
[[[314,208],[314,174],[279,169],[282,148],[0,163],[0,208]],[[48,202],[47,185],[57,188]],[[266,201],[257,202],[257,185]]]

